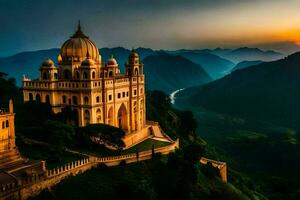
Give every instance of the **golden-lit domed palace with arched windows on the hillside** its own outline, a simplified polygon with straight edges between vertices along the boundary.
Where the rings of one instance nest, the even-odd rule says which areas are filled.
[[[133,50],[120,73],[113,56],[102,62],[98,48],[81,30],[63,43],[58,66],[46,59],[36,80],[23,77],[24,102],[49,103],[55,113],[70,107],[79,126],[105,123],[126,132],[126,147],[147,138],[143,64]]]

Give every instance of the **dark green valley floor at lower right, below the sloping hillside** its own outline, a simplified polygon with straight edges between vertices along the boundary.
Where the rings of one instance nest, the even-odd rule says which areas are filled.
[[[187,108],[187,107],[185,107]],[[229,181],[269,199],[299,199],[300,137],[293,129],[191,108],[197,133],[227,161]],[[243,186],[244,187],[244,186]],[[243,190],[247,194],[247,190]]]

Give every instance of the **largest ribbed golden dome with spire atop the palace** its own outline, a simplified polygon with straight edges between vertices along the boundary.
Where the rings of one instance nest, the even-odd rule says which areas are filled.
[[[75,34],[68,39],[61,47],[60,55],[62,61],[82,61],[86,58],[87,53],[91,59],[99,61],[99,50],[84,33],[81,31],[80,23]]]

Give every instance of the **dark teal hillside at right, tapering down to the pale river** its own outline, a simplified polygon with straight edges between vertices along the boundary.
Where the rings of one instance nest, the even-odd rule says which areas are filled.
[[[190,88],[177,100],[223,113],[295,125],[300,118],[299,87],[300,53],[295,53]]]

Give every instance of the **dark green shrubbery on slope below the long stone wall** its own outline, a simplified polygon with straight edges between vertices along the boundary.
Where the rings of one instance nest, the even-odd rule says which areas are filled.
[[[80,190],[74,190],[80,188]],[[167,159],[96,169],[70,177],[35,199],[248,199],[182,151]]]

